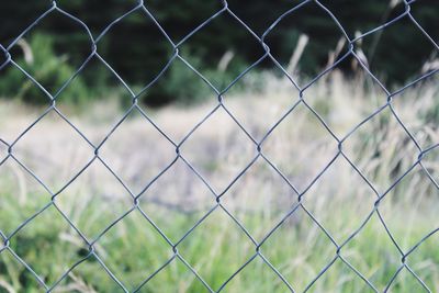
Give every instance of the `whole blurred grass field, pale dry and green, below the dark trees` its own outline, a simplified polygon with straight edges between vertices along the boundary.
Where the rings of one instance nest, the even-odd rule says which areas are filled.
[[[224,98],[226,109],[257,142],[299,98],[299,92],[285,80],[270,75],[261,80],[263,90],[232,91]],[[379,194],[385,193],[419,156],[419,149],[392,111],[419,147],[427,149],[439,140],[438,92],[437,80],[413,87],[393,98],[392,109],[387,105],[346,136],[385,105],[386,95],[365,77],[347,80],[334,71],[320,79],[304,92],[304,101],[334,135],[346,138],[341,144],[342,154],[336,139],[303,102],[263,140],[263,157],[258,156],[255,143],[222,108],[190,134],[216,106],[214,97],[206,97],[210,101],[193,108],[145,110],[177,144],[190,134],[180,147],[179,158],[176,147],[137,110],[108,137],[99,149],[99,158],[70,125],[50,111],[12,149],[14,158],[32,170],[47,189],[13,157],[3,161],[0,230],[5,236],[13,234],[10,247],[48,285],[55,284],[89,253],[87,245],[57,209],[87,239],[95,241],[99,259],[91,257],[81,262],[56,286],[56,292],[121,291],[101,262],[133,291],[167,261],[170,264],[142,286],[140,292],[209,292],[188,264],[216,291],[250,259],[223,292],[288,292],[289,288],[273,268],[296,292],[373,292],[360,274],[379,292],[387,289],[423,292],[423,285],[437,292],[439,239],[436,234],[406,257],[412,271],[403,268],[391,286],[386,286],[402,267],[403,255],[438,228],[438,148],[423,158],[424,169],[417,165],[386,193],[379,204],[379,213],[373,207]],[[81,111],[63,105],[59,109],[94,145],[105,138],[124,114],[116,102],[109,101]],[[14,142],[44,111],[2,102],[0,138]],[[0,144],[0,161],[7,156],[7,146]],[[251,167],[230,185],[256,157]],[[227,192],[217,203],[214,193],[224,191]],[[56,194],[55,204],[16,229],[50,202],[50,192]],[[140,193],[138,206],[144,215],[133,210],[133,196]],[[297,193],[303,193],[300,203]],[[127,211],[132,212],[116,222]],[[346,243],[347,239],[350,240]],[[170,243],[177,245],[177,256]],[[342,259],[337,258],[335,243],[342,245]],[[256,244],[260,244],[260,255],[272,267],[256,255]],[[0,292],[40,291],[24,266],[9,250],[2,250]]]

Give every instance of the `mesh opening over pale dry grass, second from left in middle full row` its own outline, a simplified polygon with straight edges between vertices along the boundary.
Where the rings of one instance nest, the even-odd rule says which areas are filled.
[[[133,109],[121,124],[115,125],[99,154],[137,194],[171,164],[176,148],[137,109]]]

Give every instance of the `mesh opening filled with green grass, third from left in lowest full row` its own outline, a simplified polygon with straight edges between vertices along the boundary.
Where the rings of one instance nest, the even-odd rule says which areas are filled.
[[[179,253],[218,290],[250,257],[256,246],[219,207],[178,245]]]

